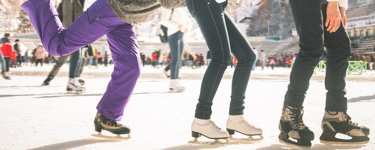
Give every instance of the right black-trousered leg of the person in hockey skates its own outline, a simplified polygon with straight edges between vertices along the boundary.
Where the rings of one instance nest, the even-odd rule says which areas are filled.
[[[325,23],[326,4],[323,5],[322,13]],[[327,48],[325,89],[326,101],[325,110],[343,111],[347,109],[347,98],[345,97],[345,76],[348,66],[348,58],[351,56],[350,39],[340,22],[340,27],[329,33],[324,26],[324,46]]]

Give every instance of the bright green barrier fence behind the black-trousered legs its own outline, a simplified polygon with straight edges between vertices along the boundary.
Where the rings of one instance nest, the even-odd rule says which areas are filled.
[[[291,61],[291,67],[293,67],[294,60]],[[315,67],[315,71],[324,71],[326,68],[325,61],[319,61]],[[362,74],[367,70],[367,62],[365,61],[349,61],[349,65],[346,69],[347,74],[358,73]]]

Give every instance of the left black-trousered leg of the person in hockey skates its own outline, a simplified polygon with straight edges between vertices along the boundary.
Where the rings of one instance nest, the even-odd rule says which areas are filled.
[[[309,80],[323,54],[321,0],[290,0],[291,12],[299,35],[299,52],[290,72],[284,104],[302,105]]]

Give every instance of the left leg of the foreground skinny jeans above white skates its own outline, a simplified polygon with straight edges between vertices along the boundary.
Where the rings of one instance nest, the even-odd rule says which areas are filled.
[[[215,0],[186,0],[187,8],[195,18],[211,52],[209,63],[202,79],[195,117],[209,119],[211,105],[222,75],[229,65],[230,47],[223,9]]]

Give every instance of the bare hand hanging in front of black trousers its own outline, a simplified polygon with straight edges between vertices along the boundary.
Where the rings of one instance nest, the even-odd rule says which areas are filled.
[[[335,32],[340,27],[341,14],[338,10],[338,1],[328,1],[327,5],[327,19],[325,26],[327,31]]]

